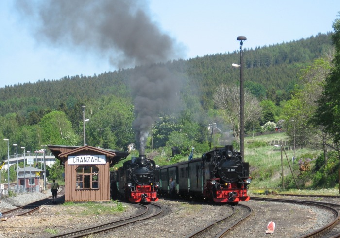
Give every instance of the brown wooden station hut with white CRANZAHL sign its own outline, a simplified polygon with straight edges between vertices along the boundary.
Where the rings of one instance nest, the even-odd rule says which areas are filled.
[[[65,201],[109,201],[110,167],[129,155],[92,146],[48,148],[65,167]]]

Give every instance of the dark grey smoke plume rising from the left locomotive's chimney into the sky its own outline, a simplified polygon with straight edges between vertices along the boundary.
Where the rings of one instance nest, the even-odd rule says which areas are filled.
[[[135,67],[131,78],[136,140],[145,140],[160,111],[176,101],[179,81],[164,62],[182,47],[162,33],[142,0],[17,0],[17,9],[40,43],[107,57],[119,68]],[[160,63],[163,62],[163,63]]]

